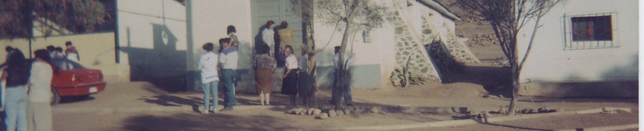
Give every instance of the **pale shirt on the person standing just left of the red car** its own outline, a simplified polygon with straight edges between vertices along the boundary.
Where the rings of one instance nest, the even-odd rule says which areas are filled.
[[[53,71],[49,63],[34,61],[32,63],[31,76],[29,76],[29,101],[50,102],[51,101],[51,78]]]

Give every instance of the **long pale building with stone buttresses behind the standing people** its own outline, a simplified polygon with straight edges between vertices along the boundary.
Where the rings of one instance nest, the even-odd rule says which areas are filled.
[[[458,56],[458,60],[478,61],[455,35],[454,20],[460,18],[440,3],[434,0],[373,2],[391,6],[395,20],[384,23],[382,28],[352,31],[349,42],[349,53],[354,60],[352,87],[392,86],[390,78],[407,61],[414,75],[440,81],[440,72],[425,49],[425,44],[438,40],[445,44],[444,50],[456,50],[451,54]],[[294,53],[298,58],[306,40],[301,16],[292,11],[290,0],[186,0],[185,3],[114,0],[106,3],[115,18],[113,32],[36,38],[32,46],[25,46],[25,40],[3,40],[0,44],[28,50],[72,41],[81,50],[81,63],[103,70],[110,81],[149,81],[170,90],[183,90],[186,86],[200,89],[196,63],[204,53],[201,45],[206,42],[218,45],[220,38],[227,37],[227,26],[233,25],[240,41],[237,87],[252,90],[255,38],[267,20],[289,23],[295,33]],[[317,83],[330,87],[333,47],[340,44],[342,32],[334,29],[334,25],[314,23],[313,27],[315,49],[320,50],[316,55]],[[278,78],[276,88],[281,83]]]

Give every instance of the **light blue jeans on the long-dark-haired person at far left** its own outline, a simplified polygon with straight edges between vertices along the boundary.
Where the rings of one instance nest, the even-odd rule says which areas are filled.
[[[7,131],[27,130],[27,88],[8,87],[5,99],[5,124]]]

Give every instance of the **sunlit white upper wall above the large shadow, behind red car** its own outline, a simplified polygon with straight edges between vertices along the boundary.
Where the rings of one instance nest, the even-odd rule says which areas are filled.
[[[183,5],[172,0],[138,0],[119,1],[117,7],[121,47],[153,49],[153,26],[163,25],[177,38],[177,50],[186,50],[186,12]]]

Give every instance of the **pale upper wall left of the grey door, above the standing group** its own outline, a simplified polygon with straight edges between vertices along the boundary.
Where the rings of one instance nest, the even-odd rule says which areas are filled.
[[[190,4],[190,5],[187,5]],[[251,34],[250,1],[188,0],[187,10],[191,15],[193,55],[188,61],[188,70],[197,70],[197,61],[205,51],[201,46],[206,42],[219,49],[219,39],[227,38],[228,25],[235,26],[240,41],[239,68],[249,69],[252,64],[253,38]]]

